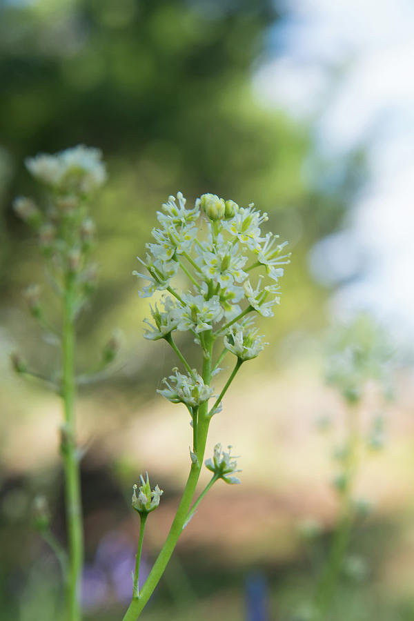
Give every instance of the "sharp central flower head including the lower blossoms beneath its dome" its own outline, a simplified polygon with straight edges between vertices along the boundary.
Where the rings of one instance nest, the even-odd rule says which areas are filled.
[[[157,219],[159,226],[152,230],[152,242],[146,244],[146,258],[139,259],[147,274],[135,275],[148,283],[141,289],[141,297],[157,291],[167,293],[159,305],[151,307],[153,321],[144,320],[148,325],[144,336],[166,339],[177,353],[172,332],[190,331],[205,358],[212,355],[216,339],[224,339],[224,353],[233,353],[238,366],[257,357],[265,344],[258,328],[245,316],[273,316],[280,300],[282,265],[289,262],[289,255],[282,253],[285,244],[277,244],[278,236],[262,235],[260,226],[267,214],[253,204],[239,207],[214,194],[202,195],[194,207],[187,208],[179,192],[177,197],[168,197]],[[252,270],[263,273],[253,279]],[[173,285],[177,273],[188,279],[184,291]],[[182,355],[179,357],[190,371]],[[219,370],[217,366],[214,372]],[[213,395],[195,370],[188,375],[178,369],[174,373],[164,379],[166,388],[158,391],[171,402],[197,408]]]

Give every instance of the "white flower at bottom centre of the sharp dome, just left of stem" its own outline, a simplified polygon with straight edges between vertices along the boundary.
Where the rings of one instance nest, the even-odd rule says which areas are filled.
[[[206,300],[203,295],[186,293],[182,295],[185,306],[177,307],[178,329],[181,331],[194,330],[204,332],[213,328],[213,323],[223,317],[219,296],[213,295]]]

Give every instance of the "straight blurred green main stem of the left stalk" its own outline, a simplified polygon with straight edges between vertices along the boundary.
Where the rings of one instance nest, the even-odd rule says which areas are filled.
[[[83,524],[79,459],[75,425],[75,328],[73,308],[75,284],[67,277],[63,296],[63,380],[62,397],[66,438],[63,446],[65,473],[66,521],[68,526],[68,580],[66,584],[66,615],[68,621],[80,621],[79,589],[83,565]]]

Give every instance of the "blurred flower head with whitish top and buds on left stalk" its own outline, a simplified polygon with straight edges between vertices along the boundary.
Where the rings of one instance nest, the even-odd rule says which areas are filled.
[[[97,269],[88,262],[95,238],[95,223],[88,215],[92,192],[106,180],[101,151],[78,145],[50,155],[40,153],[26,159],[32,176],[46,187],[44,206],[28,197],[14,201],[14,210],[37,230],[39,246],[54,277],[76,279],[79,295],[95,287]],[[62,283],[57,282],[59,289]]]

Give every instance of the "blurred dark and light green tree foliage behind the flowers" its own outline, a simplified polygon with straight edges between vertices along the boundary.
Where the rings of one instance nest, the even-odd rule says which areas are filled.
[[[319,311],[308,312],[320,309],[320,292],[306,253],[337,226],[344,200],[306,186],[306,128],[253,95],[250,77],[278,17],[271,0],[0,0],[0,135],[15,165],[0,197],[9,238],[3,293],[39,270],[10,208],[14,195],[32,193],[23,158],[83,143],[109,160],[95,214],[97,302],[108,322],[128,297],[138,304],[128,276],[134,257],[161,201],[182,190],[189,201],[212,191],[277,211],[273,230],[297,247],[276,329],[319,325]],[[92,316],[85,334],[97,326]]]

